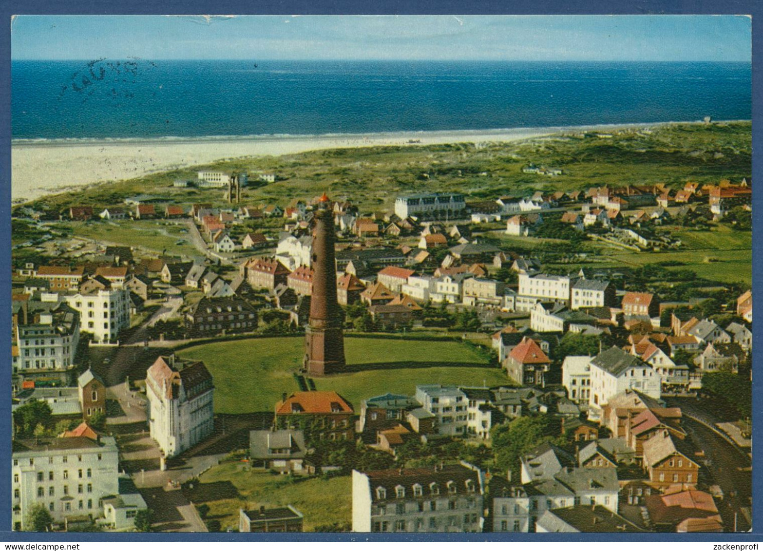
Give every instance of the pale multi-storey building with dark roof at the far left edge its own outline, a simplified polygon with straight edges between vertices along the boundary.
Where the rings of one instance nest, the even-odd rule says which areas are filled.
[[[55,373],[65,382],[78,343],[79,314],[73,308],[60,301],[24,303],[18,308],[14,375],[35,379]]]

